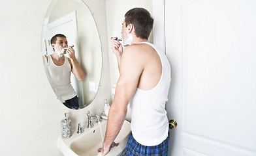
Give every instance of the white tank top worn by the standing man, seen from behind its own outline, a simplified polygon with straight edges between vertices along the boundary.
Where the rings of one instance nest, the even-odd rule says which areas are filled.
[[[166,55],[155,45],[148,44],[157,51],[162,64],[162,75],[159,83],[151,90],[136,88],[130,101],[131,131],[135,140],[144,146],[161,144],[168,136],[168,118],[165,103],[168,100],[170,87],[170,64]]]

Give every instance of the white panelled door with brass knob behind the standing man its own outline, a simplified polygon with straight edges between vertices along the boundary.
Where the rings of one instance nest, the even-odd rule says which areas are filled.
[[[169,155],[256,155],[256,1],[163,2]]]

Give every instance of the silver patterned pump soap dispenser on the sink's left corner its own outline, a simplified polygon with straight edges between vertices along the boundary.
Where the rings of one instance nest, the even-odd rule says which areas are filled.
[[[61,136],[65,139],[71,137],[71,120],[67,118],[67,112],[65,112],[64,118],[61,120]]]

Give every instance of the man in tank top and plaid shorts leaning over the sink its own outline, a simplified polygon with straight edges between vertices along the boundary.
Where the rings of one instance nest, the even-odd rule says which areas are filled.
[[[125,14],[120,42],[112,39],[112,51],[118,59],[120,78],[108,113],[103,149],[106,155],[118,146],[114,139],[120,132],[131,106],[131,135],[125,155],[168,155],[168,118],[165,103],[170,86],[170,64],[162,51],[148,43],[153,19],[144,8]]]

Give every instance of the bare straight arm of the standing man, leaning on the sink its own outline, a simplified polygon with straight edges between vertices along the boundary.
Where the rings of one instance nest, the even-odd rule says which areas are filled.
[[[132,45],[130,45],[132,46]],[[144,70],[144,62],[138,57],[136,47],[127,47],[121,57],[120,78],[116,85],[116,95],[108,114],[106,136],[101,155],[106,155],[116,146],[114,139],[120,132],[127,114],[127,105],[138,86],[140,75]]]

